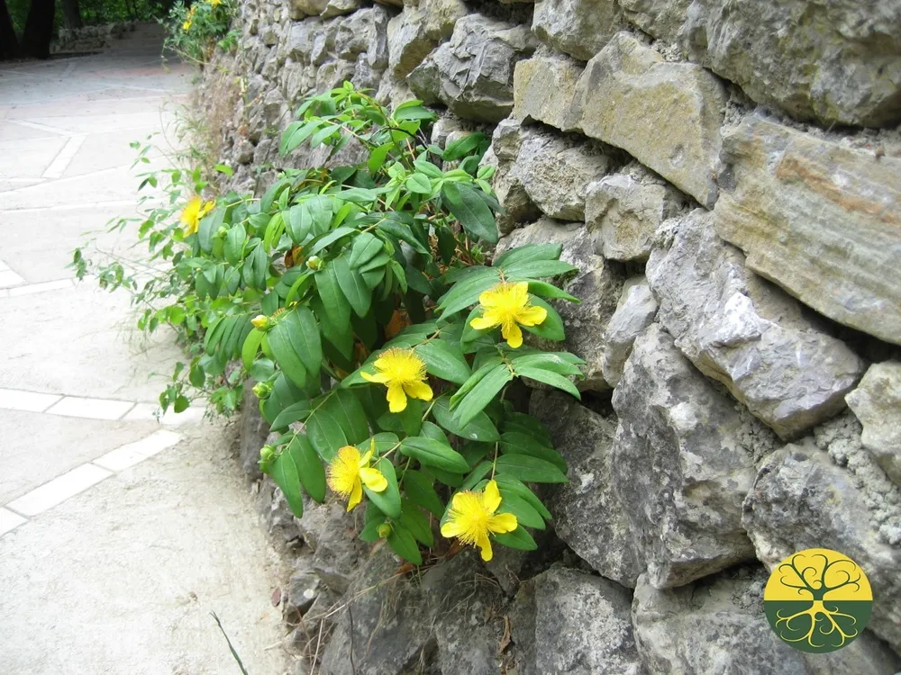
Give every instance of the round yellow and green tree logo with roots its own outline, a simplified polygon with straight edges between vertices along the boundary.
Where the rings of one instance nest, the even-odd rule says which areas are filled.
[[[850,644],[867,627],[873,591],[860,565],[828,548],[789,555],[763,591],[769,626],[802,652],[827,653]]]

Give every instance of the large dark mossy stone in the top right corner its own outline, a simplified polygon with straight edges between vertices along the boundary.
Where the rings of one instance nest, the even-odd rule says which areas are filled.
[[[899,36],[899,0],[695,0],[680,44],[797,119],[888,126],[901,120]]]

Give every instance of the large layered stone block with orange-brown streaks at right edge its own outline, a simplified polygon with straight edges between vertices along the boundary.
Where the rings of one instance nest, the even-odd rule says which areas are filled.
[[[901,159],[751,116],[724,137],[716,231],[752,270],[901,344]]]

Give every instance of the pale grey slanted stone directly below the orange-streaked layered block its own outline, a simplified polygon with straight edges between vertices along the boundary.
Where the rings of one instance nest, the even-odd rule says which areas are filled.
[[[658,320],[702,373],[780,437],[797,437],[844,408],[865,366],[797,302],[749,273],[711,219],[709,211],[687,214],[669,250],[651,254]]]

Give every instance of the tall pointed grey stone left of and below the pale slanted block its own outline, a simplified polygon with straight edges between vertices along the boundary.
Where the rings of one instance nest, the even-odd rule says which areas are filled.
[[[682,586],[754,555],[742,502],[771,447],[652,324],[614,389],[611,481],[654,588]],[[769,445],[768,445],[769,444]]]

